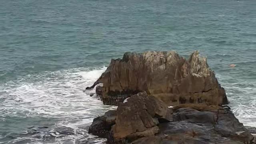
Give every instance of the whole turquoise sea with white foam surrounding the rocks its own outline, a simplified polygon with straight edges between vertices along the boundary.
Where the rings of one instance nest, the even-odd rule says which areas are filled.
[[[1,0],[0,143],[93,138],[93,118],[115,107],[84,88],[111,58],[147,50],[199,50],[234,114],[256,126],[255,0]]]

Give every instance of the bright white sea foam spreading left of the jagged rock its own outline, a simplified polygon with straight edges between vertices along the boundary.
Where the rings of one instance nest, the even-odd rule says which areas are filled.
[[[62,144],[66,140],[74,143],[88,135],[87,130],[81,127],[89,126],[93,118],[107,110],[116,109],[116,106],[104,106],[100,100],[90,97],[93,90],[83,92],[105,70],[106,67],[42,72],[1,84],[0,98],[5,101],[0,103],[0,115],[2,118],[15,116],[60,119],[55,125],[70,127],[75,134],[56,138],[54,144]],[[40,139],[31,139],[40,144]],[[20,139],[14,141],[18,140]]]

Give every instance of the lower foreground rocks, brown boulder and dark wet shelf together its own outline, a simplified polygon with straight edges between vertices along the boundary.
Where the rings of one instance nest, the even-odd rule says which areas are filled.
[[[107,138],[108,144],[254,144],[255,141],[230,108],[220,106],[182,104],[167,108],[154,96],[138,94],[120,103],[114,117],[111,122],[107,119],[98,122],[102,117],[96,118],[90,130],[99,130],[91,131],[92,134]],[[107,132],[103,127],[108,128]]]

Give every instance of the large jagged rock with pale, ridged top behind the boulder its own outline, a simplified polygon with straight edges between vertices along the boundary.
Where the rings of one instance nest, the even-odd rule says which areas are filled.
[[[99,83],[104,84],[102,100],[108,105],[118,105],[138,92],[147,92],[168,105],[228,103],[224,88],[198,51],[188,60],[173,51],[127,52],[122,59],[112,59],[106,72],[87,89]]]

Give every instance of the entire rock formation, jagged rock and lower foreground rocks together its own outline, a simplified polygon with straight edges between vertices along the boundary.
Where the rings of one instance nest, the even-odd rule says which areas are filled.
[[[118,105],[89,128],[108,144],[256,144],[256,128],[222,106],[225,90],[198,51],[188,60],[176,52],[125,53],[86,89],[95,86],[104,104]]]

